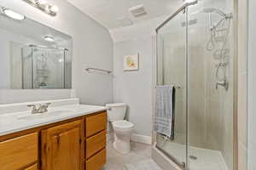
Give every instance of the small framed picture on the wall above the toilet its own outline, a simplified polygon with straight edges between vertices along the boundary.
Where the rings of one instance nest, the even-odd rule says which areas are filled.
[[[139,54],[125,55],[124,71],[138,71],[139,69]]]

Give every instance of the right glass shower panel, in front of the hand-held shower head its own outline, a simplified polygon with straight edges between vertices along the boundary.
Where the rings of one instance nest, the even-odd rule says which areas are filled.
[[[232,2],[207,0],[189,8],[189,170],[233,167]]]

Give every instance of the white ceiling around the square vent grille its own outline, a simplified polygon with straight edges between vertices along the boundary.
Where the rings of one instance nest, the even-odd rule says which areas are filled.
[[[131,23],[142,22],[155,17],[172,13],[182,0],[67,0],[79,8],[84,14],[112,30],[119,27],[131,26]],[[143,4],[147,12],[141,17],[134,17],[129,8]]]

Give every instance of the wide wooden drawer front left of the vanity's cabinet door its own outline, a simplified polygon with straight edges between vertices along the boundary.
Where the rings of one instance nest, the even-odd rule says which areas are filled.
[[[17,170],[38,161],[38,133],[0,143],[1,170]]]

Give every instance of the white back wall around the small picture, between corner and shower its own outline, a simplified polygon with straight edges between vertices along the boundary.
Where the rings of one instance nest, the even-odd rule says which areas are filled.
[[[152,133],[152,59],[153,37],[116,42],[113,47],[114,102],[129,106],[127,118],[135,124],[135,133]],[[139,54],[139,71],[123,71],[127,54]]]

